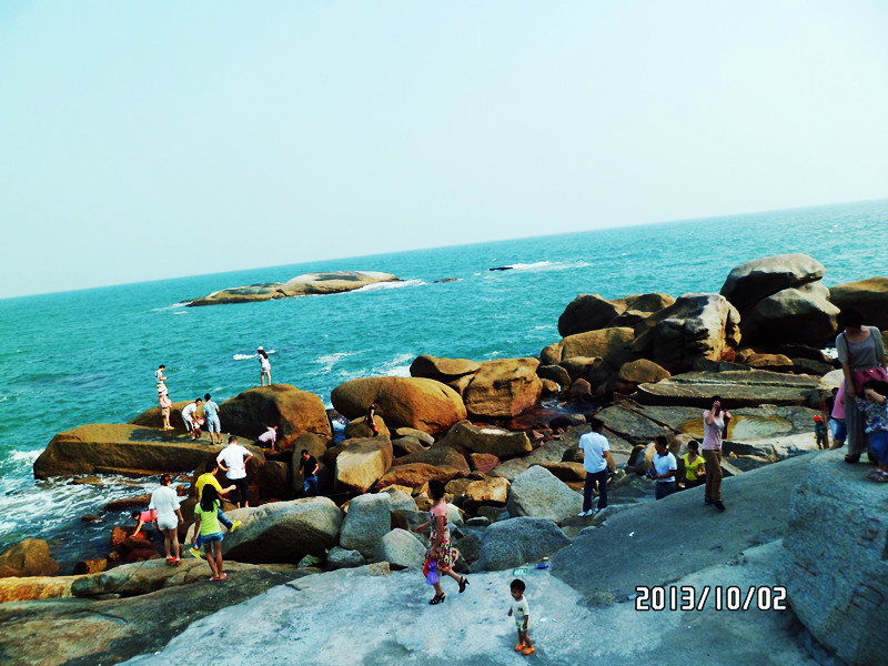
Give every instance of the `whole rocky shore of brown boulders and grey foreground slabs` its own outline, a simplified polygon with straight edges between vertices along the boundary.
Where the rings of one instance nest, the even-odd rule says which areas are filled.
[[[737,266],[720,293],[582,294],[558,321],[562,340],[538,357],[421,355],[410,377],[341,384],[330,411],[295,386],[249,389],[221,413],[223,428],[254,453],[248,476],[261,505],[224,506],[242,522],[222,544],[224,585],[206,581],[202,561],[167,566],[155,543],[124,526],[120,505],[109,505],[111,553],[80,563],[77,575],[58,575],[44,542],[0,554],[3,663],[140,654],[149,656],[137,664],[172,663],[193,658],[208,635],[219,639],[201,656],[220,663],[248,653],[256,663],[515,663],[505,609],[513,567],[522,566],[538,614],[535,663],[628,666],[670,654],[727,665],[779,655],[803,666],[818,662],[811,653],[833,664],[884,663],[888,485],[868,482],[869,467],[845,464],[840,451],[817,451],[813,431],[840,381],[838,362],[821,351],[836,314],[852,305],[886,336],[888,278],[830,290],[824,272],[789,254]],[[287,290],[274,293],[297,291]],[[653,502],[644,476],[652,440],[667,437],[680,476],[680,455],[702,435],[702,408],[715,394],[734,415],[723,447],[727,511],[705,506],[700,488]],[[377,435],[363,417],[373,402]],[[100,482],[174,473],[184,498],[180,539],[189,542],[194,475],[219,447],[205,435],[188,438],[183,405],[171,432],[153,407],[130,424],[60,433],[34,474]],[[593,415],[620,470],[609,506],[578,517],[577,442]],[[347,421],[344,440],[331,420]],[[276,453],[255,442],[272,422]],[[323,496],[303,496],[303,448],[320,463]],[[446,484],[462,554],[455,569],[473,583],[465,595],[447,589],[443,610],[426,603],[426,546],[413,533],[428,517],[431,480]],[[710,599],[699,610],[640,613],[638,586],[693,587],[697,598],[703,589],[753,589],[758,610],[725,613]],[[785,608],[773,604],[781,589]],[[57,628],[72,623],[77,632]],[[231,634],[232,626],[250,629]],[[718,636],[717,648],[694,639],[703,635]]]

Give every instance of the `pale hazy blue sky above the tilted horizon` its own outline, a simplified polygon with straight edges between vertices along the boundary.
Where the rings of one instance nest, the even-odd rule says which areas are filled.
[[[4,0],[0,297],[881,199],[886,34],[881,0]]]

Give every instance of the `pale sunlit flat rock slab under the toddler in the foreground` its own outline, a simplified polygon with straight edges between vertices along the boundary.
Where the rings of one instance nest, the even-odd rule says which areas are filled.
[[[675,584],[773,585],[775,549],[757,548],[740,565],[714,566]],[[447,598],[430,606],[431,587],[417,572],[371,576],[362,567],[309,576],[196,622],[162,652],[128,664],[192,663],[200,645],[200,662],[218,666],[243,664],[243,655],[254,664],[514,666],[524,657],[513,650],[515,623],[506,615],[513,577],[512,571],[471,575],[462,595],[445,579]],[[712,602],[689,613],[639,613],[633,604],[587,608],[548,571],[531,567],[526,579],[537,646],[529,664],[816,664],[793,639],[791,613],[718,613]],[[689,635],[718,639],[688,642]]]

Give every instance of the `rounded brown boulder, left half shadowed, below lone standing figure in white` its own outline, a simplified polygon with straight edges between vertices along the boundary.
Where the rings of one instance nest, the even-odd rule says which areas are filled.
[[[324,403],[314,393],[290,384],[259,386],[239,393],[219,405],[222,426],[232,433],[255,440],[268,426],[278,426],[278,447],[290,448],[304,433],[324,441],[333,440],[333,431]]]

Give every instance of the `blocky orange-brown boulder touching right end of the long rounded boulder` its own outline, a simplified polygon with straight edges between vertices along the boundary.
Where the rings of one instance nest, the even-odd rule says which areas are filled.
[[[537,359],[484,361],[463,390],[470,414],[487,418],[511,418],[533,408],[543,384],[536,376]]]

